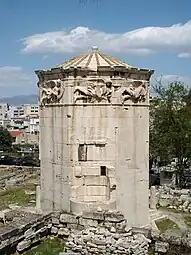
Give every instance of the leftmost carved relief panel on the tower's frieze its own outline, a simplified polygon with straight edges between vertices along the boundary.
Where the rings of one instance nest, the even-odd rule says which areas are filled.
[[[64,86],[61,80],[49,80],[40,84],[39,103],[40,106],[59,103],[64,94]]]

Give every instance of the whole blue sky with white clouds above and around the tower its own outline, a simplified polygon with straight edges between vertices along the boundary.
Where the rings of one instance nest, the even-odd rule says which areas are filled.
[[[191,84],[190,0],[84,1],[1,0],[0,97],[36,93],[34,70],[93,45]]]

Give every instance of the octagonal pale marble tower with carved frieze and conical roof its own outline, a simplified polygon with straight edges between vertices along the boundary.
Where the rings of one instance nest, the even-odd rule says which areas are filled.
[[[116,209],[131,226],[147,225],[153,70],[93,47],[36,74],[42,209]]]

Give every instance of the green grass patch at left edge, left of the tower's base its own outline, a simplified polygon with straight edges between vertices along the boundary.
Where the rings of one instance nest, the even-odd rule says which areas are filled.
[[[17,204],[20,206],[35,204],[35,202],[31,203],[31,201],[36,200],[36,195],[25,193],[25,190],[35,191],[35,189],[35,185],[27,185],[0,192],[0,210],[8,208],[9,204]]]

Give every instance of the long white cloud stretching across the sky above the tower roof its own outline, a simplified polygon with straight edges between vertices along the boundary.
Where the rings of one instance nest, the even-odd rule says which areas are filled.
[[[25,53],[77,53],[97,45],[105,52],[148,55],[173,52],[191,57],[191,21],[167,27],[144,27],[122,34],[76,27],[71,31],[34,34],[22,39]]]

